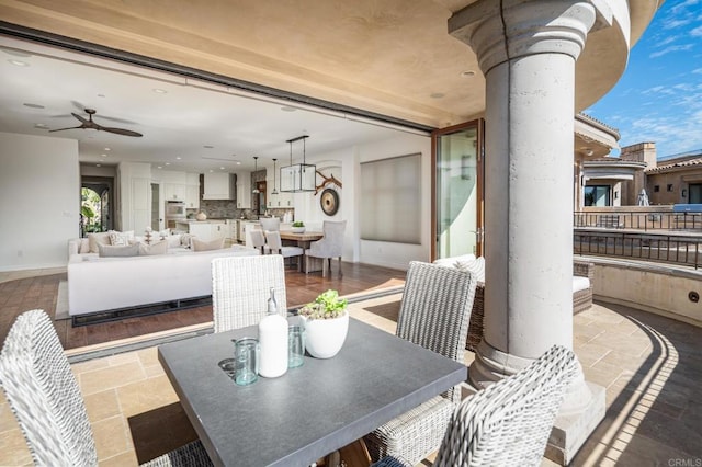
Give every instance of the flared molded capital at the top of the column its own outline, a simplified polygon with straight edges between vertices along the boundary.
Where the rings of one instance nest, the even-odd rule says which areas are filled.
[[[566,54],[577,59],[598,0],[478,0],[449,19],[449,33],[468,44],[484,75],[510,59]]]

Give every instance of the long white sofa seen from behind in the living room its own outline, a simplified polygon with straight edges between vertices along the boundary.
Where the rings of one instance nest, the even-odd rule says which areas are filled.
[[[78,242],[78,247],[80,242]],[[193,252],[176,248],[167,254],[99,258],[77,253],[69,241],[68,312],[71,317],[212,295],[214,258],[260,254],[233,246]]]

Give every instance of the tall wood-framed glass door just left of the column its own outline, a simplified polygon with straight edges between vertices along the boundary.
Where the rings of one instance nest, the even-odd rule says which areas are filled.
[[[483,121],[434,132],[432,258],[483,254]]]

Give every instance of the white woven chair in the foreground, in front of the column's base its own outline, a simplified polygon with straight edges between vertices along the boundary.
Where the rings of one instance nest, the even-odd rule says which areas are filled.
[[[456,407],[434,466],[540,466],[568,386],[578,374],[573,351],[554,345],[531,365]],[[373,467],[412,466],[388,456]]]

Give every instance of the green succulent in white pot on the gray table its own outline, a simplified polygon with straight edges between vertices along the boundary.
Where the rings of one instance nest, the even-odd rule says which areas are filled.
[[[348,300],[329,289],[297,311],[305,327],[305,346],[312,356],[331,358],[339,353],[349,331],[347,307]]]

